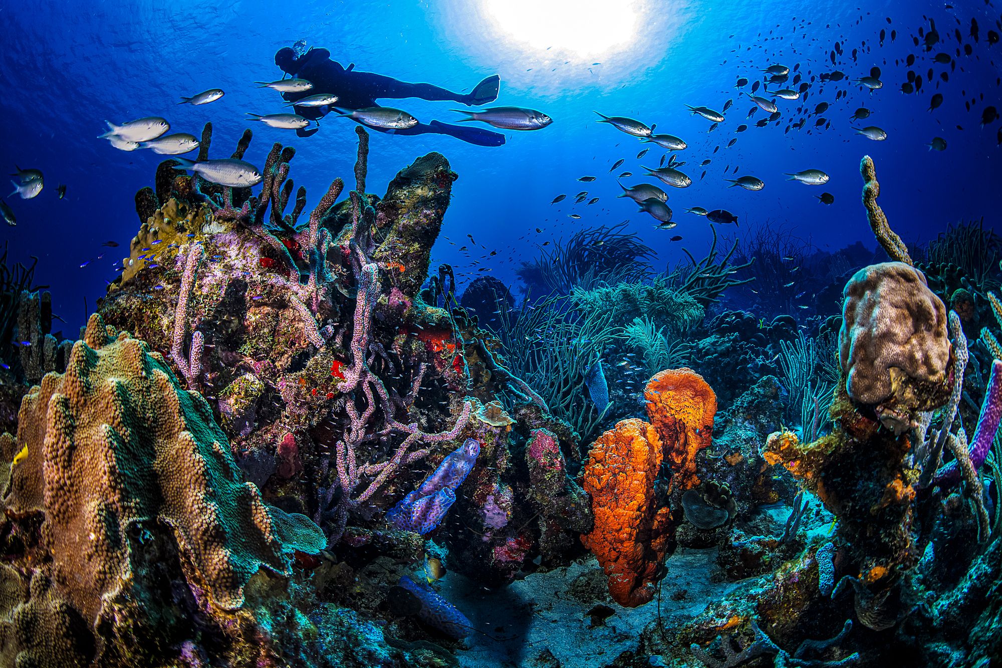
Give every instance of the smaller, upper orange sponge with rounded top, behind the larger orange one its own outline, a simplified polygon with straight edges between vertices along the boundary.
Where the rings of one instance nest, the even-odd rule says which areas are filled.
[[[699,483],[695,455],[713,435],[716,395],[698,373],[683,367],[666,369],[647,383],[647,417],[664,444],[671,462],[671,489],[690,489]]]

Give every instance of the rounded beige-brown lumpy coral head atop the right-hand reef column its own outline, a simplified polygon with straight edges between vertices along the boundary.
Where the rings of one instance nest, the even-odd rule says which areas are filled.
[[[946,307],[922,272],[902,262],[864,267],[846,284],[844,297],[839,359],[853,400],[882,403],[905,378],[945,380]]]

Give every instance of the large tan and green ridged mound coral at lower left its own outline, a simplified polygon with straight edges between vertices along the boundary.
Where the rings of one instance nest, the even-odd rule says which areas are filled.
[[[294,551],[324,547],[303,516],[266,506],[242,482],[226,437],[196,392],[180,388],[163,357],[92,315],[63,374],[24,397],[3,505],[41,513],[53,587],[89,622],[135,574],[129,529],[168,526],[187,581],[222,609],[265,566],[292,573]]]

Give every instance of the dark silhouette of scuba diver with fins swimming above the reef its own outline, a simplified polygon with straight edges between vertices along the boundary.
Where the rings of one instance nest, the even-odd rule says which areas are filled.
[[[313,88],[310,90],[283,93],[282,96],[286,100],[295,102],[308,95],[333,93],[338,96],[337,106],[346,109],[380,106],[377,99],[402,97],[419,97],[430,101],[451,100],[467,106],[477,106],[497,99],[500,86],[500,77],[497,74],[482,80],[469,93],[453,92],[430,83],[408,83],[383,74],[356,71],[355,63],[345,67],[333,60],[331,52],[324,48],[311,48],[303,55],[297,56],[297,52],[287,46],[275,54],[275,64],[290,76],[313,83]],[[297,113],[310,120],[319,120],[329,111],[327,107],[296,107]],[[500,132],[469,125],[450,125],[438,120],[429,123],[419,122],[414,127],[406,129],[369,127],[393,134],[448,134],[480,146],[500,146],[505,140],[504,134]],[[296,130],[296,133],[300,136],[310,136],[318,129],[319,126],[301,128]]]

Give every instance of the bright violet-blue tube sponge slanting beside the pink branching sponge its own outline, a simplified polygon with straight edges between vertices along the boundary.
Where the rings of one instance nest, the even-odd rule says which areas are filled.
[[[456,488],[470,474],[479,454],[480,443],[475,438],[467,438],[446,455],[417,489],[390,509],[387,521],[402,531],[427,534],[434,530],[456,500]]]

